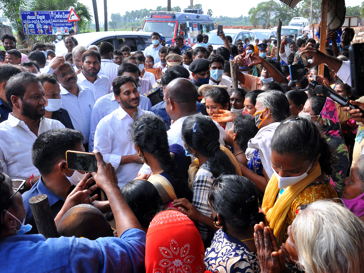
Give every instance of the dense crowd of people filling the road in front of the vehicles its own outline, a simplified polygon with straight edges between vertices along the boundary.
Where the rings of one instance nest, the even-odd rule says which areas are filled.
[[[153,32],[133,54],[59,34],[25,55],[5,33],[1,272],[363,273],[364,118],[307,88],[364,110],[354,31],[339,35],[323,53],[306,35],[277,52],[223,32],[216,50],[201,34],[166,47]],[[307,91],[288,85],[302,55]],[[58,238],[39,234],[40,194]]]

